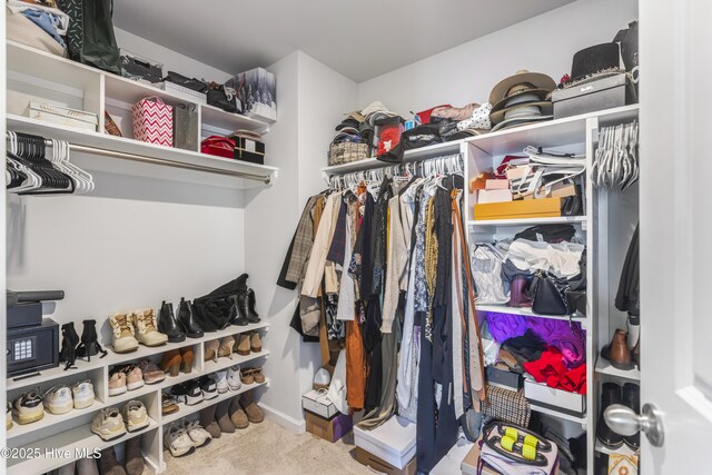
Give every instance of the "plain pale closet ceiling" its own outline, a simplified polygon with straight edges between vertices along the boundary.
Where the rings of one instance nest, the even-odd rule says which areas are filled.
[[[113,14],[118,28],[227,72],[299,49],[362,82],[572,1],[120,0]]]

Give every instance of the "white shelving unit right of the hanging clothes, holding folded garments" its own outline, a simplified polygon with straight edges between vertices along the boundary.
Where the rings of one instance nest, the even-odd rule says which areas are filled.
[[[404,161],[421,161],[428,158],[441,157],[451,154],[463,154],[465,162],[465,177],[472,178],[481,171],[496,168],[506,155],[522,155],[527,146],[543,147],[544,149],[557,149],[586,155],[587,169],[591,169],[593,154],[597,146],[599,128],[630,122],[637,118],[637,105],[625,106],[615,109],[601,110],[581,116],[567,117],[558,120],[538,122],[514,129],[502,130],[493,133],[473,137],[469,139],[438,144],[419,149],[408,150],[404,154]],[[380,168],[388,164],[375,158],[352,164],[325,167],[322,174],[325,178],[349,171]],[[587,179],[587,182],[590,180]],[[586,243],[587,256],[587,311],[585,318],[573,318],[580,321],[586,330],[586,413],[583,417],[572,416],[551,407],[542,407],[532,404],[532,410],[561,420],[575,423],[581,429],[587,432],[589,473],[593,473],[595,452],[611,453],[601,444],[596,444],[595,428],[597,420],[599,383],[603,378],[640,379],[636,369],[621,372],[611,367],[607,362],[599,358],[599,352],[610,339],[610,281],[617,286],[619,275],[610,269],[609,247],[609,201],[607,192],[597,192],[586,185],[585,215],[576,217],[555,218],[528,218],[528,219],[488,219],[477,220],[474,216],[474,198],[465,194],[463,214],[468,224],[468,238],[471,243],[481,240],[496,240],[513,237],[516,232],[527,227],[543,224],[570,224],[576,229],[576,235]],[[627,246],[627,243],[624,244]],[[523,315],[536,318],[553,318],[568,320],[568,317],[535,315],[531,309],[511,308],[505,305],[476,305],[478,318],[484,318],[486,311]],[[595,449],[594,449],[595,448]],[[621,453],[630,453],[622,448]]]

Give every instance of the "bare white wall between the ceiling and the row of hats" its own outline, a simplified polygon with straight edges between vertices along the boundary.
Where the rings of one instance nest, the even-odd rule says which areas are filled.
[[[442,103],[486,102],[495,83],[522,69],[558,82],[576,51],[611,41],[636,18],[637,0],[580,0],[362,82],[358,103],[380,100],[408,117]]]

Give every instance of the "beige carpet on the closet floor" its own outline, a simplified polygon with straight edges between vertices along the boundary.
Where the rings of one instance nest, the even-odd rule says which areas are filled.
[[[293,434],[266,419],[235,434],[222,434],[185,457],[174,458],[165,451],[164,461],[170,475],[195,475],[207,469],[220,475],[373,475],[354,459],[353,452],[353,433],[332,444],[309,433]]]

